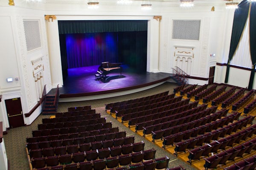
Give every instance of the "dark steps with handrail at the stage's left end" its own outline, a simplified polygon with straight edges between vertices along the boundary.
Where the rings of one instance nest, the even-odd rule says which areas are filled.
[[[58,99],[59,99],[59,89],[57,86],[55,95],[46,95],[42,114],[55,115],[58,108]]]

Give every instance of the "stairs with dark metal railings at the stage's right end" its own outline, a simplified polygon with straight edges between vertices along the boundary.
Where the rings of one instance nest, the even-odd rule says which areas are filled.
[[[175,66],[172,68],[173,76],[171,77],[178,85],[188,84],[189,82],[189,75],[186,74],[183,70]]]

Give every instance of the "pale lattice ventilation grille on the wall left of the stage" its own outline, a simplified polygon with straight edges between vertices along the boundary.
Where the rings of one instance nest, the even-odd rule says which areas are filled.
[[[27,51],[41,47],[41,37],[38,20],[23,20]]]

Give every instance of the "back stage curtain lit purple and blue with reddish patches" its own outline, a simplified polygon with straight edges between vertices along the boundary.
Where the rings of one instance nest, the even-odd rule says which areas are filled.
[[[67,67],[78,68],[118,62],[116,32],[66,34]]]

